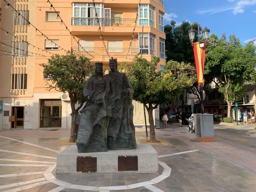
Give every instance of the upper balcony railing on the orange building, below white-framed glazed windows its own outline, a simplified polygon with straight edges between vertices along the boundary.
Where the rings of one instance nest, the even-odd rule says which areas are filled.
[[[72,17],[71,19],[72,25],[82,25],[82,26],[113,26],[113,27],[134,27],[137,24],[135,20],[132,19],[104,19],[99,18],[98,20],[95,18],[88,17]]]

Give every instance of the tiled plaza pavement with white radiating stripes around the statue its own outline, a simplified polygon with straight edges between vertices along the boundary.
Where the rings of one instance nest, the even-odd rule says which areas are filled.
[[[168,165],[171,173],[164,180],[147,185],[151,191],[256,191],[255,153],[220,142],[198,142],[194,139],[195,134],[188,133],[186,127],[170,124],[167,126],[167,129],[161,126],[161,129],[156,129],[155,132],[156,138],[168,145],[152,146],[160,156],[159,161]],[[56,175],[55,169],[51,170],[51,167],[55,166],[57,151],[62,151],[67,147],[67,145],[56,144],[68,140],[69,134],[70,130],[61,129],[57,131],[49,131],[49,129],[0,130],[0,136],[2,136],[0,137],[0,191],[90,191],[60,187],[56,183],[48,182],[49,179],[46,180],[46,178],[52,177],[51,173],[62,181],[60,184],[62,186],[64,182],[68,182],[92,187],[127,186],[146,182],[159,176],[159,174]],[[142,143],[141,139],[145,139],[145,135],[145,128],[136,128],[137,143]],[[200,151],[174,155],[174,153],[190,150]],[[173,155],[165,156],[167,154]],[[163,169],[159,165],[160,174]],[[55,179],[54,177],[52,179]],[[142,188],[145,187],[113,191],[138,192]],[[104,190],[104,192],[107,191],[109,190]]]

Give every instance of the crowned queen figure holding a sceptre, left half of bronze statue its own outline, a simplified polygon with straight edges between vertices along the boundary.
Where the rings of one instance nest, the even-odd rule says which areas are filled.
[[[103,76],[103,63],[95,63],[95,74],[84,87],[86,107],[81,112],[78,153],[107,151],[109,85],[109,79]]]

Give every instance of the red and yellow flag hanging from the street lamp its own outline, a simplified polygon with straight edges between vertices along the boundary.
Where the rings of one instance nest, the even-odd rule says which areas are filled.
[[[204,83],[205,46],[206,42],[204,42],[204,47],[202,48],[200,48],[200,42],[193,43],[198,87],[200,83]]]

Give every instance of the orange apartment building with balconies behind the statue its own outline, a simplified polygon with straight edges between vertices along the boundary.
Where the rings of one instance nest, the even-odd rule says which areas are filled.
[[[42,63],[47,63],[47,58],[52,54],[62,55],[65,54],[65,50],[83,55],[87,55],[88,52],[93,56],[92,63],[103,62],[103,65],[109,68],[110,57],[117,58],[120,64],[123,61],[131,61],[135,54],[141,54],[142,51],[142,56],[147,60],[151,60],[152,55],[160,57],[158,69],[164,68],[163,0],[131,0],[129,2],[95,0],[95,7],[90,0],[52,0],[50,2],[8,0],[7,2],[29,22],[20,17],[11,6],[5,8],[7,3],[0,0],[0,26],[4,29],[2,34],[0,32],[0,44],[4,43],[4,46],[0,46],[0,124],[2,129],[46,127],[70,129],[69,98],[56,90],[48,91],[45,85],[46,79],[50,77],[44,77]],[[96,13],[98,18],[95,18]],[[73,36],[66,30],[61,20]],[[101,31],[99,31],[99,25]],[[131,42],[134,27],[134,37]],[[143,45],[140,45],[142,28]],[[9,32],[7,35],[6,31]],[[11,34],[18,38],[14,38]],[[78,47],[73,37],[82,48]],[[110,57],[106,54],[104,45]],[[134,125],[145,125],[143,105],[135,101],[133,104]],[[158,109],[154,113],[157,126]]]

